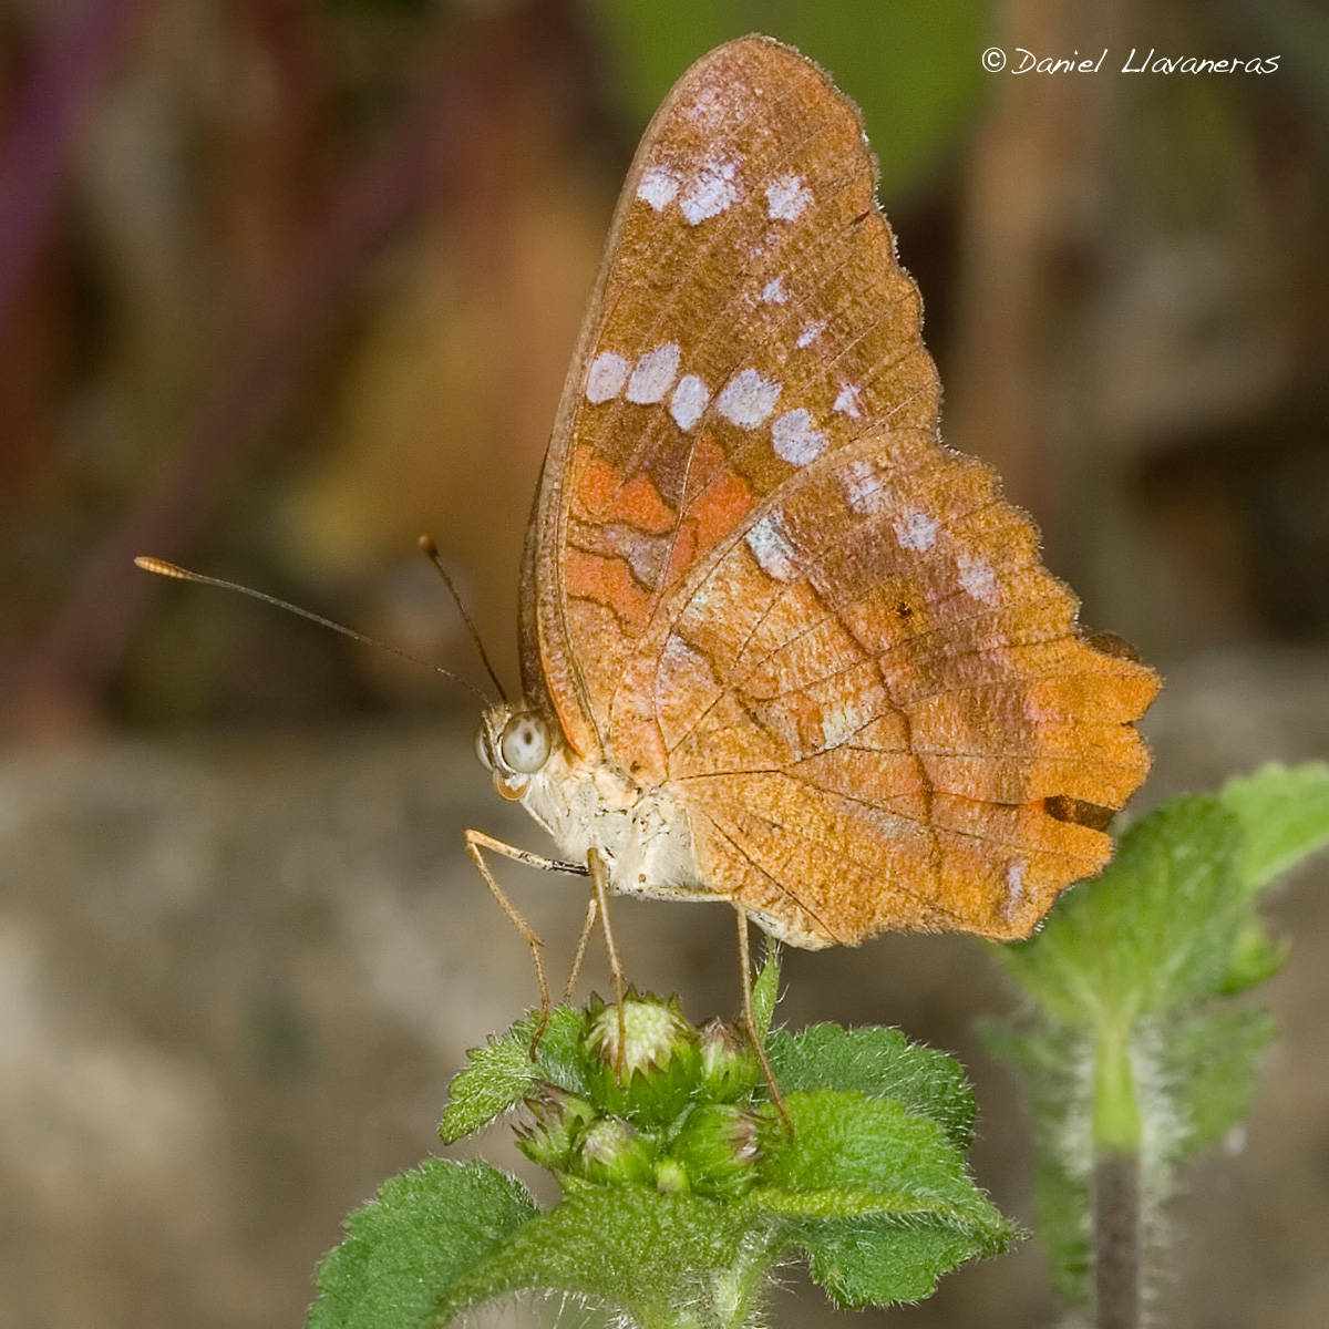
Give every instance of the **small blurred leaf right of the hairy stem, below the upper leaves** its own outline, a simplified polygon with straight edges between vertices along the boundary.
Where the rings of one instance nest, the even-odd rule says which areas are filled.
[[[1245,1009],[1191,1021],[1168,1041],[1164,1067],[1181,1127],[1177,1158],[1217,1144],[1244,1120],[1260,1087],[1260,1053],[1276,1033],[1268,1011]]]

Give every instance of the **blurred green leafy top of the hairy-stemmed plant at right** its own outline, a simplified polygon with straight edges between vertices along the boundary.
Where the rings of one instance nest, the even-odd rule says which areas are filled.
[[[1179,1164],[1251,1110],[1277,1027],[1227,999],[1277,973],[1286,948],[1260,906],[1326,844],[1329,766],[1267,766],[1156,808],[1037,936],[994,948],[1029,1006],[985,1035],[1029,1094],[1039,1236],[1071,1305],[1092,1292],[1095,1159],[1135,1160],[1152,1268]]]

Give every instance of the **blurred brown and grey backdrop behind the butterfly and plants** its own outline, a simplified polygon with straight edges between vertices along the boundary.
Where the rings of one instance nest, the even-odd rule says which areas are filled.
[[[750,31],[863,108],[948,441],[1034,513],[1084,622],[1166,675],[1139,805],[1329,755],[1322,7],[0,0],[0,1324],[299,1324],[342,1215],[436,1147],[464,1049],[534,998],[461,853],[464,825],[544,848],[474,763],[469,694],[129,561],[478,682],[428,532],[513,680],[623,171],[687,64]],[[1014,74],[1018,48],[1107,54]],[[1277,68],[1122,72],[1148,51]],[[557,970],[581,889],[504,880]],[[1244,1150],[1180,1207],[1170,1322],[1329,1322],[1326,884],[1278,901],[1285,1037]],[[625,904],[618,928],[639,985],[732,1011],[727,917]],[[981,946],[787,974],[791,1023],[962,1057],[979,1180],[1027,1220],[1019,1104],[970,1029],[1009,999]],[[888,1318],[1050,1324],[1039,1261]],[[791,1288],[777,1324],[829,1318]]]

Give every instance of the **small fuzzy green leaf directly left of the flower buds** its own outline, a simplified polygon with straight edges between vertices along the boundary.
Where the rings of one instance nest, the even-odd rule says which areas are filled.
[[[448,1107],[439,1126],[444,1144],[488,1126],[512,1111],[541,1082],[574,1094],[586,1091],[581,1054],[582,1017],[570,1006],[556,1006],[536,1055],[530,1045],[538,1015],[518,1021],[500,1038],[468,1054],[468,1065],[448,1088]]]

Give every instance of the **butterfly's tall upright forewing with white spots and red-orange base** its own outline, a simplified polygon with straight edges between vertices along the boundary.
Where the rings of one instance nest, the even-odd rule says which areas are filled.
[[[647,130],[540,514],[542,581],[561,582],[542,645],[575,655],[601,735],[668,591],[801,459],[870,419],[936,417],[873,183],[853,108],[768,41],[712,52]]]

